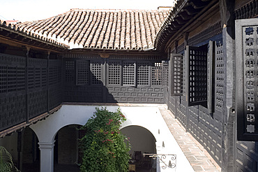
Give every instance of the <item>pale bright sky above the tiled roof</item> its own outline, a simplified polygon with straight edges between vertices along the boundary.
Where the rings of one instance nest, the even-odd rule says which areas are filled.
[[[174,0],[0,0],[0,20],[21,22],[42,20],[65,13],[71,8],[146,9],[172,6]]]

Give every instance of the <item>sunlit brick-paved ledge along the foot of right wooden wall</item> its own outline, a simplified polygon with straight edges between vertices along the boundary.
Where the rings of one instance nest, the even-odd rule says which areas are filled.
[[[196,172],[221,172],[220,166],[195,138],[185,132],[185,128],[175,119],[170,110],[167,110],[167,106],[162,105],[158,108],[192,168]]]

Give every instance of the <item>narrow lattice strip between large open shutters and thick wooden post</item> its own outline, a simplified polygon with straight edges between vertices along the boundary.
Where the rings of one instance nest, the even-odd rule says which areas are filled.
[[[216,63],[216,87],[215,87],[215,94],[216,94],[216,110],[222,112],[223,106],[223,97],[224,97],[224,55],[223,55],[223,45],[219,43],[216,45],[216,54],[215,54],[215,63]]]

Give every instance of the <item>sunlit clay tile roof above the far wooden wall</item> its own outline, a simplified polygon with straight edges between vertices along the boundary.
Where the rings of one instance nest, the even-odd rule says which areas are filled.
[[[69,45],[70,48],[144,50],[153,48],[155,35],[169,10],[83,10],[46,20],[16,24],[22,30]]]

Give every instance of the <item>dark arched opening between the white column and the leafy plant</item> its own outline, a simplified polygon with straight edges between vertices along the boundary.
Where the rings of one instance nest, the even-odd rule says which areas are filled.
[[[79,171],[79,127],[80,125],[70,124],[56,133],[54,171]]]

